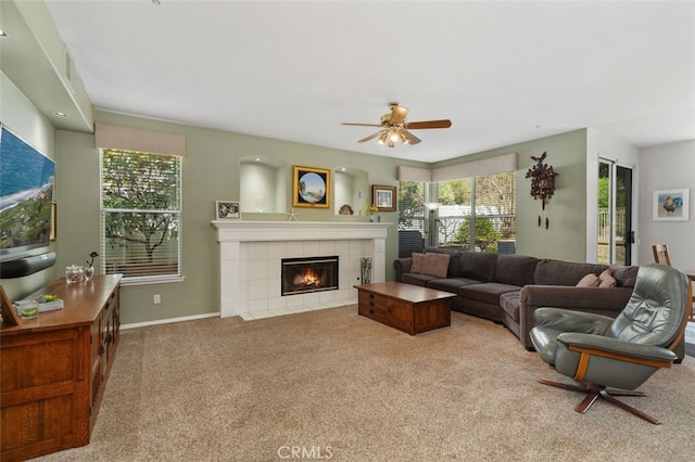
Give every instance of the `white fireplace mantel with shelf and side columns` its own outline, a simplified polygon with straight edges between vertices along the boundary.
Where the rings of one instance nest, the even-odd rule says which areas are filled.
[[[242,261],[245,254],[242,245],[253,243],[299,243],[328,241],[363,241],[366,242],[367,255],[372,259],[371,281],[380,282],[386,279],[386,239],[392,223],[387,222],[344,222],[344,221],[253,221],[253,220],[214,220],[211,222],[217,229],[219,242],[219,315],[220,317],[241,316],[249,313],[250,306],[271,309],[278,303],[286,304],[268,295],[267,299],[255,299],[247,303],[245,292],[252,291],[249,285],[260,284],[249,281],[247,261]],[[308,255],[295,255],[308,256]],[[276,258],[277,256],[268,257]],[[267,265],[273,268],[274,265]],[[279,266],[279,259],[278,259]],[[262,265],[254,265],[254,268]],[[273,275],[267,275],[268,280]],[[268,283],[273,286],[273,284]],[[343,284],[348,285],[348,284]],[[256,285],[258,287],[260,285]],[[262,285],[261,285],[262,286]],[[342,287],[343,291],[352,287]],[[257,290],[252,291],[257,294]],[[291,296],[301,297],[301,296]],[[296,301],[296,300],[295,300]]]

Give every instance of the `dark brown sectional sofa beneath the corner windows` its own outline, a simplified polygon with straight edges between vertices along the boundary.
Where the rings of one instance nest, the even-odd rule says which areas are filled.
[[[446,278],[412,272],[413,258],[399,258],[393,262],[396,281],[456,294],[452,309],[501,322],[528,350],[533,350],[529,332],[536,308],[568,308],[612,318],[628,304],[637,274],[634,266],[437,247],[426,247],[424,253],[451,254]],[[576,286],[584,275],[599,275],[606,269],[616,279],[615,287]]]

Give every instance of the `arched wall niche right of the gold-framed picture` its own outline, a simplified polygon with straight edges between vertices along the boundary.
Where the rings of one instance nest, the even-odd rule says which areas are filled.
[[[371,203],[369,174],[356,167],[338,167],[333,170],[333,204],[336,215],[365,215]],[[341,211],[342,210],[342,211]]]

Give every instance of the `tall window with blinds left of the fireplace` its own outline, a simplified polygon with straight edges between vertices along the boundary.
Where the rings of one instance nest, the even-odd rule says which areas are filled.
[[[124,282],[181,277],[181,157],[101,151],[102,270]]]

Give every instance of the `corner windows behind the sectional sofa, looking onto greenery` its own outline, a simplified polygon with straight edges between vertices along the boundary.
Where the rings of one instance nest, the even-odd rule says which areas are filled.
[[[431,192],[430,196],[426,197],[424,191]],[[401,181],[400,195],[400,231],[418,231],[426,236],[426,230],[432,229],[437,235],[427,239],[431,245],[515,253],[516,171],[433,184]],[[431,228],[426,223],[425,202],[440,204],[435,211],[437,223]],[[399,236],[399,253],[412,253],[405,242],[406,233],[401,232]]]

